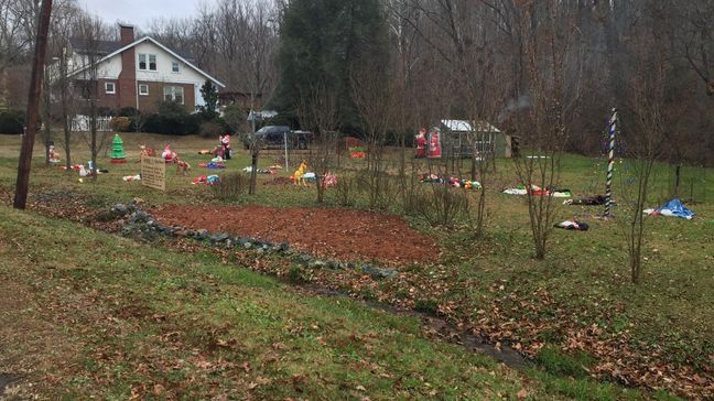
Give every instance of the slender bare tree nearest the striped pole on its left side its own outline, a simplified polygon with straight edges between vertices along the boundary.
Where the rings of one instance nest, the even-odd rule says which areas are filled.
[[[575,98],[567,96],[577,91],[566,86],[569,67],[576,67],[578,62],[578,53],[573,48],[578,32],[567,3],[529,1],[520,10],[528,90],[532,99],[520,131],[536,154],[513,161],[518,177],[527,187],[536,258],[544,259],[556,212],[551,192],[560,183],[561,155],[569,133],[566,113],[573,113],[578,101],[576,95]]]

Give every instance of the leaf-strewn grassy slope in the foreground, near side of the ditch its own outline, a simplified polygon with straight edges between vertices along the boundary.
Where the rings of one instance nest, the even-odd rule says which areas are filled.
[[[50,366],[26,378],[51,378],[35,390],[42,397],[496,399],[526,390],[536,400],[571,397],[572,387],[599,394],[584,399],[641,397],[587,380],[565,388],[536,371],[526,380],[424,338],[415,318],[295,293],[212,254],[0,212],[0,282],[29,289],[34,305],[0,314],[0,323],[8,330],[18,319],[43,322],[51,340],[71,349],[13,344],[15,366],[37,355]]]

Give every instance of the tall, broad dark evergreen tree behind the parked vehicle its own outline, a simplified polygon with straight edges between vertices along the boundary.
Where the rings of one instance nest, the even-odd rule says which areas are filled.
[[[268,107],[295,119],[301,96],[310,96],[320,86],[336,95],[343,130],[359,129],[350,74],[363,64],[388,64],[380,1],[291,1],[280,35],[280,83]]]

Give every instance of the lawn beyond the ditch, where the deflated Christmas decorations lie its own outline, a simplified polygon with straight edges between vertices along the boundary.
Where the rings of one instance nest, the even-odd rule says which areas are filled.
[[[190,184],[194,176],[208,174],[196,167],[206,158],[195,153],[202,148],[213,148],[215,140],[150,134],[125,134],[123,139],[130,163],[110,165],[107,159],[102,159],[100,164],[107,166],[110,173],[100,176],[97,183],[88,180],[79,183],[76,175],[68,175],[56,167],[44,167],[39,159],[41,154],[36,152],[32,191],[87,194],[91,197],[93,205],[98,207],[127,202],[133,197],[142,197],[150,205],[217,202],[207,188]],[[122,175],[138,173],[138,164],[132,164],[131,161],[139,153],[139,144],[145,142],[161,149],[165,141],[170,141],[194,165],[190,177],[177,176],[169,170],[166,193],[121,181]],[[83,142],[77,142],[75,148],[80,149],[80,160],[87,159],[88,152]],[[18,137],[0,138],[0,187],[11,188],[14,185],[17,150]],[[273,163],[274,160],[264,159],[260,166]],[[343,163],[348,169],[357,169],[361,162]],[[240,170],[248,164],[248,154],[242,150],[237,150],[236,159],[228,163],[229,171]],[[604,192],[604,162],[566,155],[563,165],[561,186],[569,187],[577,195]],[[666,164],[656,166],[650,206],[657,206],[669,198],[673,186],[673,169]],[[615,182],[618,201],[618,194],[628,185],[627,175],[630,171],[631,163],[618,163]],[[337,171],[338,176],[340,173],[345,172]],[[290,174],[292,172],[281,173],[282,176]],[[547,260],[533,260],[524,201],[518,196],[500,194],[500,188],[518,184],[512,162],[506,160],[498,161],[491,183],[494,189],[488,192],[489,217],[483,238],[473,238],[467,228],[432,228],[420,218],[408,216],[415,228],[439,240],[443,250],[439,265],[404,268],[404,280],[386,280],[367,286],[361,292],[350,288],[350,278],[344,273],[325,273],[325,280],[364,297],[416,306],[429,312],[447,306],[441,311],[454,322],[478,322],[484,315],[490,316],[498,308],[500,317],[493,318],[484,327],[498,328],[500,324],[512,319],[517,324],[507,330],[507,337],[522,342],[524,346],[544,343],[559,349],[575,332],[587,330],[596,325],[601,333],[599,340],[607,343],[621,339],[624,345],[638,355],[656,355],[660,362],[682,364],[701,375],[710,375],[707,377],[711,378],[711,356],[714,355],[714,322],[710,318],[710,311],[714,310],[714,293],[711,291],[714,288],[714,253],[711,247],[714,241],[714,186],[707,184],[712,177],[713,169],[683,169],[682,188],[685,191],[682,189],[682,197],[690,196],[689,185],[693,184],[694,198],[704,202],[692,206],[697,214],[694,220],[664,217],[648,219],[649,234],[645,248],[647,260],[639,285],[629,283],[621,226],[592,219],[592,215],[602,212],[598,207],[560,207],[560,218],[586,219],[591,224],[591,230],[554,231],[549,242]],[[317,206],[314,203],[314,188],[262,185],[272,177],[259,176],[259,180],[256,196],[244,196],[236,202],[280,207]],[[365,207],[364,198],[356,201],[356,208]],[[336,196],[329,192],[325,206],[336,205]],[[390,212],[399,213],[399,208],[392,207]],[[619,213],[616,208],[615,215],[618,216]],[[176,260],[185,257],[177,257]],[[299,269],[291,274],[295,281],[305,280]],[[181,285],[191,288],[190,281],[185,278],[182,280],[171,285],[187,291]],[[500,285],[504,290],[499,289]],[[416,291],[410,292],[411,288]],[[209,289],[199,286],[195,291],[202,293]],[[534,334],[524,324],[533,322],[541,326]],[[559,359],[558,354],[554,359]],[[553,379],[551,384],[555,387],[549,388],[549,391],[565,397],[580,398],[574,394],[586,393],[589,386],[595,386],[582,380],[571,382],[571,379],[562,377],[562,369],[555,369],[556,376],[552,376],[553,371],[545,370],[547,372],[539,375],[558,378]],[[574,373],[570,371],[567,375]]]

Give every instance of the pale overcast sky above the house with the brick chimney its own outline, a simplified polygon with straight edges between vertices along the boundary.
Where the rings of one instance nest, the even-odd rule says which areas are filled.
[[[201,0],[80,0],[90,13],[109,23],[129,22],[147,30],[149,22],[160,18],[184,18],[196,12]],[[205,2],[205,0],[204,0]]]

